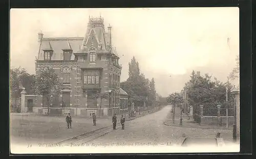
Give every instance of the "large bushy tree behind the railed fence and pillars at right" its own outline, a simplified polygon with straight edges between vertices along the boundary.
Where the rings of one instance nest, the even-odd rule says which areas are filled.
[[[190,76],[193,80],[193,76]],[[226,87],[228,88],[228,103],[226,102]],[[231,90],[234,86],[229,82],[222,83],[214,78],[211,80],[211,76],[207,73],[204,76],[197,76],[193,85],[187,87],[188,102],[190,105],[194,105],[193,113],[194,119],[197,121],[200,116],[199,105],[204,105],[204,110],[211,110],[211,115],[217,115],[218,104],[226,105],[232,104]]]

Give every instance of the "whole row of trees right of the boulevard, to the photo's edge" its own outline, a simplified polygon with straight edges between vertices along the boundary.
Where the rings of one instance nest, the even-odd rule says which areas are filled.
[[[236,87],[231,82],[239,80],[239,57],[236,62],[236,67],[230,72],[225,83],[220,82],[216,77],[212,80],[212,76],[208,73],[204,76],[196,76],[193,70],[183,90],[172,93],[166,98],[166,101],[174,106],[173,113],[177,105],[187,102],[185,105],[193,105],[194,119],[197,122],[200,119],[200,105],[204,106],[205,115],[217,116],[217,105],[221,105],[221,115],[226,116],[226,109],[228,109],[228,116],[233,116],[234,96],[231,91],[239,86]],[[186,100],[183,98],[185,94]],[[188,113],[188,107],[185,107],[184,111]]]

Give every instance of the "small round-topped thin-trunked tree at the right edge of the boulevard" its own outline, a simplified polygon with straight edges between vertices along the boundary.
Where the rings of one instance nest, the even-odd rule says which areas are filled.
[[[183,100],[184,99],[182,94],[178,92],[169,94],[169,96],[166,98],[166,101],[173,105],[173,123],[175,123],[175,107],[177,107],[178,104],[182,103]]]

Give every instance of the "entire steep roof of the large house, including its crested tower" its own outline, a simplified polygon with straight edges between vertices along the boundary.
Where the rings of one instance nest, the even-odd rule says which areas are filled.
[[[52,60],[62,60],[63,50],[73,50],[71,60],[74,60],[74,53],[88,52],[90,48],[95,49],[97,53],[112,52],[117,55],[116,49],[111,42],[111,26],[108,26],[108,32],[105,32],[103,17],[89,17],[86,35],[75,38],[42,38],[40,41],[37,60],[44,60],[44,50],[53,50]]]

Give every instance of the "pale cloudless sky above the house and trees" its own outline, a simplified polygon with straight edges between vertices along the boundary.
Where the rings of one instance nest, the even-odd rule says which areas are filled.
[[[155,79],[161,96],[180,91],[193,70],[222,82],[239,55],[239,8],[11,9],[10,67],[35,73],[38,33],[84,37],[89,15],[112,25],[112,40],[127,79],[129,62],[139,62]],[[229,40],[228,40],[229,38]],[[237,83],[237,82],[236,82]]]

